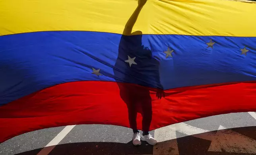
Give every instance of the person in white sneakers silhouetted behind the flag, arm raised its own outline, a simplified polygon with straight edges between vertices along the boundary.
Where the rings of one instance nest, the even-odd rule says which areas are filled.
[[[158,60],[152,57],[152,52],[149,48],[142,45],[142,31],[132,33],[132,28],[146,1],[138,1],[137,8],[125,25],[118,47],[118,58],[114,67],[114,76],[120,89],[120,96],[127,104],[130,128],[134,132],[134,145],[140,145],[140,140],[147,141],[151,145],[157,143],[149,134],[152,119],[149,87],[162,89],[159,80]],[[158,92],[157,96],[161,98],[162,93]],[[142,113],[143,117],[143,135],[141,137],[136,122],[138,112]]]

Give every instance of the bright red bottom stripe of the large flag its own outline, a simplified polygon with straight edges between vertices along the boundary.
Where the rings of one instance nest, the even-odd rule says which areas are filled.
[[[134,84],[70,82],[1,106],[0,142],[25,132],[64,125],[111,124],[130,127],[127,101],[120,95],[120,87],[136,88],[137,101],[140,101],[139,96],[145,95],[145,90],[150,92],[150,130],[211,115],[256,111],[256,81],[170,89],[160,100],[156,97],[157,90]],[[138,112],[143,113],[143,110],[139,110],[141,105],[136,106]],[[142,115],[138,114],[138,129],[142,129],[141,122]]]

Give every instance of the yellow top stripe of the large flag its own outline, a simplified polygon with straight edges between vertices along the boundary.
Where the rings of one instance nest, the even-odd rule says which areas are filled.
[[[0,35],[81,30],[122,34],[136,0],[0,0]],[[133,31],[144,34],[256,36],[256,4],[148,0]]]

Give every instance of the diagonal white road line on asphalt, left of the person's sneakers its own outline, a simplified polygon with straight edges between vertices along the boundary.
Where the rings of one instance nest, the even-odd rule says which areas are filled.
[[[75,127],[76,125],[66,126],[60,133],[50,141],[37,155],[48,155],[56,145]]]

